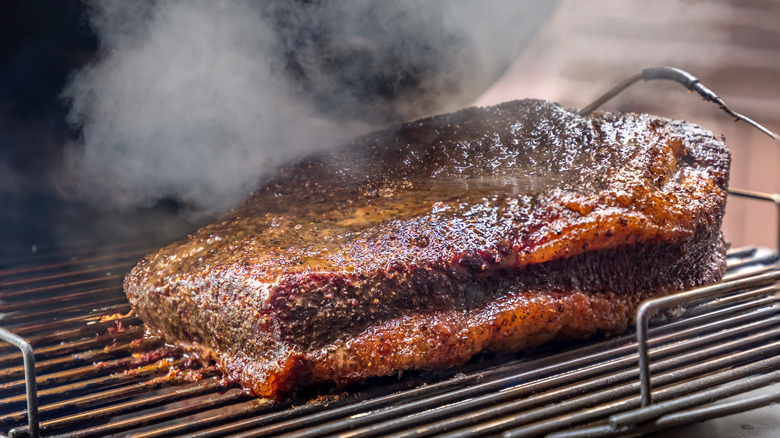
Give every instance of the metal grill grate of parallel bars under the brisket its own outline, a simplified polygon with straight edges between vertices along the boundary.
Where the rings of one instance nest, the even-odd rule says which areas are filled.
[[[7,436],[619,436],[780,401],[780,391],[729,399],[780,381],[780,270],[767,249],[732,250],[723,282],[646,303],[639,336],[484,356],[274,404],[223,383],[213,366],[142,338],[121,281],[154,247],[0,261],[0,334],[15,342],[0,345]],[[37,377],[25,380],[29,356]],[[37,397],[28,400],[33,383]],[[36,403],[39,422],[28,418]]]

